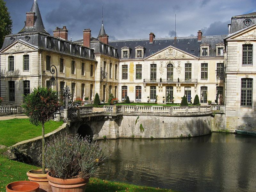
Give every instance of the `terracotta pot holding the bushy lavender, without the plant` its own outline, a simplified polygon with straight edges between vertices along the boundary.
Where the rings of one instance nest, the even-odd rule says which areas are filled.
[[[89,179],[59,179],[51,177],[49,172],[47,173],[47,179],[52,186],[52,192],[84,192],[86,184]]]

